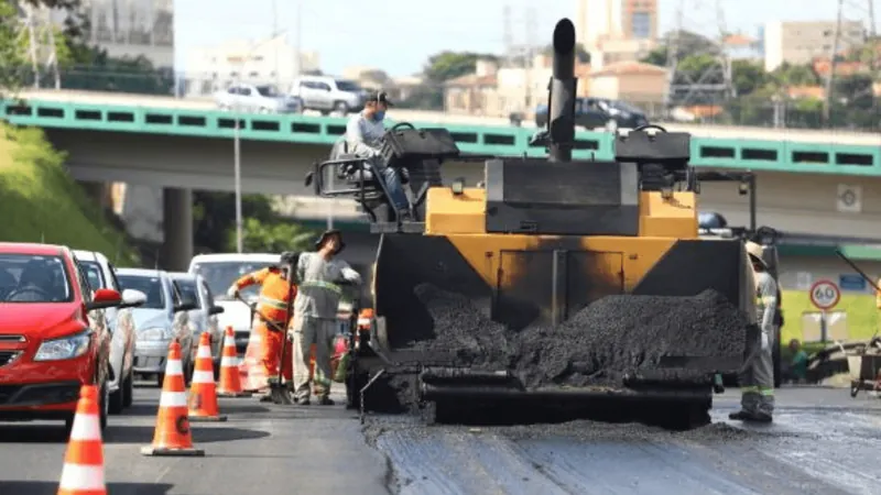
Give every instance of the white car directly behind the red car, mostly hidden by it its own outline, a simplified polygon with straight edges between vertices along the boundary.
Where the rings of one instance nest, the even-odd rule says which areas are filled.
[[[120,414],[131,406],[134,397],[134,318],[132,308],[146,301],[146,295],[140,290],[123,289],[116,275],[116,268],[101,253],[93,251],[74,251],[83,272],[93,290],[99,288],[113,289],[122,295],[122,304],[105,309],[107,327],[110,330],[110,376],[107,388],[110,393],[108,409],[111,414]]]

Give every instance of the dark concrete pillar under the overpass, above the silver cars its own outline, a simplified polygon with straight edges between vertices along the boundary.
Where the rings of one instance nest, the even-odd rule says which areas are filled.
[[[162,190],[163,270],[185,272],[193,257],[193,190],[166,187]]]

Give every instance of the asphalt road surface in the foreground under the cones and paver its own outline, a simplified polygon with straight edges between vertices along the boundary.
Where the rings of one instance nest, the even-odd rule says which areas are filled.
[[[668,432],[580,421],[508,428],[422,427],[341,406],[308,409],[221,399],[227,424],[194,425],[206,457],[144,458],[159,397],[105,435],[113,495],[323,494],[872,494],[881,400],[846,389],[780,391],[776,422],[728,421],[737,396],[717,399],[714,425]],[[59,427],[0,426],[0,494],[54,494]]]

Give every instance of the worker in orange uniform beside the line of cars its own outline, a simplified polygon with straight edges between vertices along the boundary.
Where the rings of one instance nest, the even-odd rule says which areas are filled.
[[[260,285],[260,297],[257,304],[257,317],[259,323],[253,331],[259,332],[263,342],[263,353],[261,362],[267,377],[278,376],[282,345],[285,342],[285,332],[279,329],[287,329],[291,316],[287,311],[293,309],[291,305],[296,297],[297,286],[291,279],[291,268],[296,266],[300,260],[298,253],[284,252],[281,255],[281,266],[270,266],[258,272],[249,273],[236,280],[229,287],[227,295],[236,298],[239,292],[252,285]],[[290,370],[285,370],[284,378],[289,382],[293,380],[289,376]]]

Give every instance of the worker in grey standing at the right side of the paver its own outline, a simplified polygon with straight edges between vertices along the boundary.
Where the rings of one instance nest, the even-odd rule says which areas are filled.
[[[776,341],[777,284],[762,260],[762,246],[747,242],[747,254],[752,263],[755,282],[755,309],[760,341],[752,343],[748,351],[752,362],[738,377],[741,391],[741,410],[729,415],[730,419],[741,421],[771,422],[774,414],[774,358]],[[755,345],[759,349],[754,349]]]

